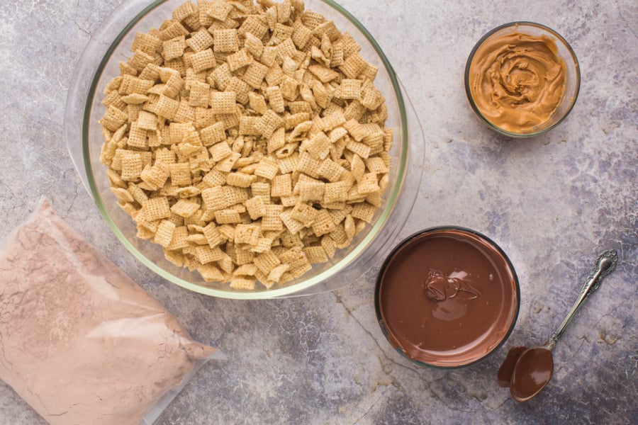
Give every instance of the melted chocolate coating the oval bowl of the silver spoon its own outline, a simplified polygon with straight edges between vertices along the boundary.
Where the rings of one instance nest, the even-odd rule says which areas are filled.
[[[530,348],[516,362],[510,392],[518,401],[534,397],[543,389],[554,373],[552,351],[546,348]]]

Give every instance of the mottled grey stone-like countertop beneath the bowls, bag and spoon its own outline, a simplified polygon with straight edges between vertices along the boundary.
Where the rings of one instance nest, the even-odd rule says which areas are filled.
[[[340,0],[386,52],[425,128],[427,161],[403,234],[462,225],[516,268],[520,316],[505,346],[462,370],[416,368],[374,314],[375,270],[332,293],[238,302],[191,293],[133,259],[82,186],[62,137],[67,90],[118,0],[0,0],[0,237],[41,195],[86,239],[228,353],[208,363],[158,424],[638,423],[638,4],[615,1]],[[509,140],[465,98],[466,57],[487,30],[537,21],[571,42],[582,85],[569,118]],[[554,378],[516,404],[496,385],[510,346],[541,343],[605,249],[620,263],[554,350]],[[43,420],[0,382],[0,424]]]

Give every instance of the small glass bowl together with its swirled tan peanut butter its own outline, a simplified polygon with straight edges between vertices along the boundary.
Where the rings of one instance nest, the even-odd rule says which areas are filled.
[[[472,108],[488,125],[525,137],[553,128],[569,113],[580,73],[560,35],[539,24],[512,23],[477,43],[465,84]]]

